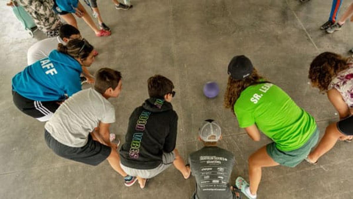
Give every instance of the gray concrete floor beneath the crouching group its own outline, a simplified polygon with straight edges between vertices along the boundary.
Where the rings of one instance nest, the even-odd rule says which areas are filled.
[[[340,15],[350,1],[343,2]],[[193,178],[184,180],[170,167],[153,178],[148,188],[125,187],[107,162],[93,167],[56,156],[44,142],[43,125],[20,113],[12,103],[11,78],[26,66],[26,51],[44,35],[23,30],[11,9],[0,6],[0,198],[115,198],[186,199],[194,190]],[[120,70],[123,92],[110,100],[116,107],[111,131],[124,138],[128,116],[148,96],[146,80],[163,74],[175,84],[173,105],[179,114],[177,148],[184,158],[201,148],[197,129],[213,118],[222,125],[220,142],[235,154],[232,182],[248,179],[247,158],[269,140],[255,143],[239,129],[236,118],[222,107],[227,65],[234,55],[250,57],[259,72],[282,87],[295,102],[312,114],[320,127],[338,119],[327,97],[308,84],[307,72],[320,52],[348,56],[353,47],[352,25],[334,34],[319,26],[328,18],[331,0],[134,0],[134,8],[117,11],[110,1],[99,1],[103,19],[112,35],[97,38],[78,20],[83,36],[100,55],[90,68]],[[203,96],[202,86],[217,81],[221,92],[215,99]],[[258,198],[353,198],[351,184],[352,144],[339,142],[311,166],[277,166],[263,169]]]

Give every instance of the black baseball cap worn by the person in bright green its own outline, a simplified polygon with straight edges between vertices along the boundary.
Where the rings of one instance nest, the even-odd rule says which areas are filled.
[[[233,79],[241,80],[252,74],[253,66],[249,58],[245,55],[233,57],[228,65],[228,75]]]

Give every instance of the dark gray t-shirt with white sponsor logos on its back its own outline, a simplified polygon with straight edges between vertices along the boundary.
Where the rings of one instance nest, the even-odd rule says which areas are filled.
[[[203,147],[189,156],[192,175],[196,178],[196,199],[233,199],[229,178],[234,155],[219,147]]]

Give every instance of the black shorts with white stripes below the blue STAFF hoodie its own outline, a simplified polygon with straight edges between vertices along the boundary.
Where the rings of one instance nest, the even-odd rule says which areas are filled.
[[[48,121],[60,106],[58,101],[33,101],[32,99],[23,97],[16,91],[12,91],[12,99],[20,111],[39,121]]]

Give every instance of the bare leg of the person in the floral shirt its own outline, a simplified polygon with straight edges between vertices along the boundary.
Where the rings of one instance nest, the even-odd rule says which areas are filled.
[[[340,137],[346,137],[337,129],[336,125],[337,123],[335,122],[326,128],[324,137],[322,137],[317,147],[308,155],[310,161],[315,163],[323,154],[335,146]]]

